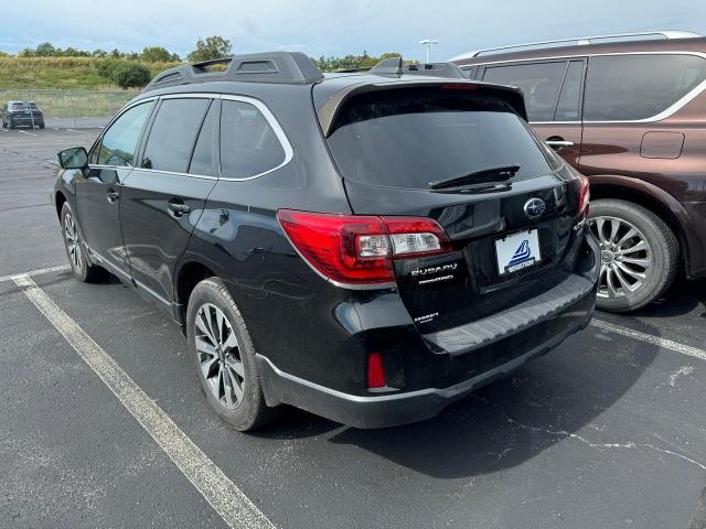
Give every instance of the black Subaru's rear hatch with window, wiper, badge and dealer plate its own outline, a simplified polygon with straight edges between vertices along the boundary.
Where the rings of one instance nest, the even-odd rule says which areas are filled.
[[[522,111],[506,88],[389,83],[323,117],[356,215],[432,218],[448,234],[449,251],[395,260],[424,334],[518,305],[573,271],[581,184]]]

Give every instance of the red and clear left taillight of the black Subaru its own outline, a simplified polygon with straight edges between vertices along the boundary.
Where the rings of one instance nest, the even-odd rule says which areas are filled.
[[[395,281],[393,260],[451,250],[446,231],[430,218],[277,212],[299,253],[324,278],[342,285]]]

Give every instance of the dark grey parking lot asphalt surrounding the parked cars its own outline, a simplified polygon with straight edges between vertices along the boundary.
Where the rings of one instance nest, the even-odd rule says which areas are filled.
[[[98,131],[24,132],[0,132],[0,527],[706,527],[703,281],[597,313],[430,421],[287,410],[242,434],[208,411],[164,315],[65,267],[55,153]],[[28,289],[17,274],[36,270]]]

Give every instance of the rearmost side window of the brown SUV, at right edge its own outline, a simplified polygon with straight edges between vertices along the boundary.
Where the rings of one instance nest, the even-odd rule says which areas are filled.
[[[706,78],[706,61],[695,55],[613,55],[588,63],[584,119],[651,118]]]

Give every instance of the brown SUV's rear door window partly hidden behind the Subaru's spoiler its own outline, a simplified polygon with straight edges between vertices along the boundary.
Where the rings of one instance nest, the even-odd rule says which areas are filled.
[[[566,62],[489,66],[483,80],[522,88],[530,121],[552,121]]]

